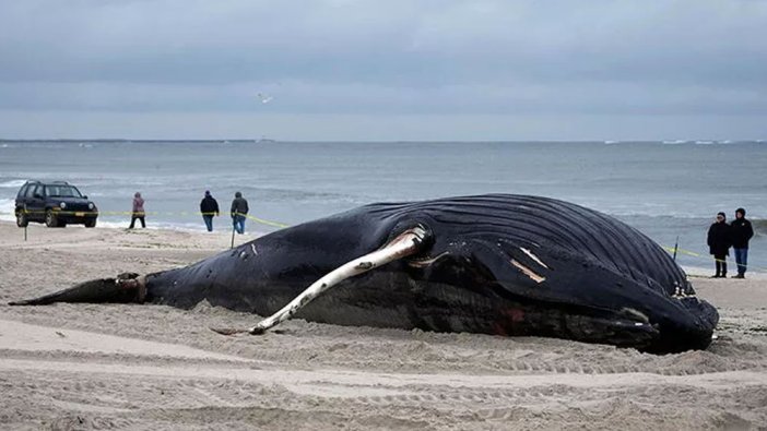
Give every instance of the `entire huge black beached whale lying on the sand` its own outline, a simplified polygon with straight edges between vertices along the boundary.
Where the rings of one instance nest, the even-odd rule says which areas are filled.
[[[186,267],[91,280],[12,304],[189,309],[202,300],[275,313],[250,333],[296,314],[652,352],[704,349],[719,320],[669,254],[636,229],[573,203],[509,194],[370,204]]]

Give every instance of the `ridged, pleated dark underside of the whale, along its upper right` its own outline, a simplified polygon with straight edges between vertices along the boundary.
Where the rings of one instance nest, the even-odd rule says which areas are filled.
[[[614,217],[569,202],[486,194],[373,204],[358,211],[384,219],[428,215],[456,238],[507,240],[570,253],[669,295],[674,294],[676,286],[692,289],[682,268],[646,235]]]

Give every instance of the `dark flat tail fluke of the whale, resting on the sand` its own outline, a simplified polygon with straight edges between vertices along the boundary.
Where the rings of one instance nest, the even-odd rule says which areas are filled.
[[[146,296],[145,278],[123,273],[117,278],[97,278],[38,298],[9,302],[9,306],[46,306],[55,302],[143,302]]]

